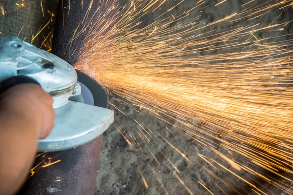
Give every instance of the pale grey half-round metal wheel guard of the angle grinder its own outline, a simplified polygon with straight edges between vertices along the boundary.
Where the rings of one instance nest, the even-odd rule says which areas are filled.
[[[39,140],[38,151],[60,151],[87,143],[103,134],[114,120],[112,110],[74,101],[55,112],[55,127]]]

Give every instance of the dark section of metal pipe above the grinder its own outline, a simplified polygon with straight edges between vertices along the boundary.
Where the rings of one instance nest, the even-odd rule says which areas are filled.
[[[94,14],[101,6],[99,1],[100,0],[59,0],[58,19],[55,27],[52,51],[53,54],[66,60],[70,64],[74,64],[78,60],[73,54],[73,51],[77,51],[81,48],[84,34],[77,36],[73,41],[70,41],[70,39],[75,32],[79,32],[84,25],[82,22],[85,16],[88,16],[88,19],[91,19],[94,16],[92,21],[98,20],[98,15]],[[89,7],[91,8],[88,9]],[[102,10],[99,10],[99,12],[101,13]]]

